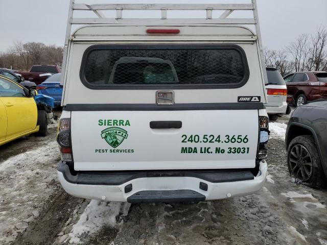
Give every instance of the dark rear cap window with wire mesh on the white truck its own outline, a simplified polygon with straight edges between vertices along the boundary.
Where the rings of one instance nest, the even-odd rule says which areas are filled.
[[[91,86],[235,85],[248,72],[235,47],[95,47],[83,58],[82,79]],[[245,81],[246,82],[246,81]]]

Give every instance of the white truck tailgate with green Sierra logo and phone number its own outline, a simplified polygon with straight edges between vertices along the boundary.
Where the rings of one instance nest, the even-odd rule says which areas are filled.
[[[258,110],[72,111],[76,170],[253,168]]]

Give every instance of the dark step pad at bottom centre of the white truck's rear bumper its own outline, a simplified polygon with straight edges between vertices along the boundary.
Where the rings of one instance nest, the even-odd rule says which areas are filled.
[[[194,190],[143,190],[127,198],[129,203],[200,202],[205,195]]]

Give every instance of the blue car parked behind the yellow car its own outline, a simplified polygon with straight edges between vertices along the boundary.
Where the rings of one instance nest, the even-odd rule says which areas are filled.
[[[48,95],[55,99],[55,107],[58,107],[61,104],[62,85],[60,85],[60,79],[61,73],[57,73],[36,86],[36,90],[39,94]]]

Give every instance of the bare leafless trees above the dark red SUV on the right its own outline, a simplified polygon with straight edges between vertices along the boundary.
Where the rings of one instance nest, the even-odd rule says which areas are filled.
[[[320,26],[313,35],[302,34],[282,50],[264,49],[266,66],[282,76],[294,71],[327,71],[327,29]]]

